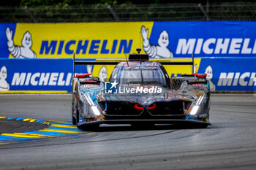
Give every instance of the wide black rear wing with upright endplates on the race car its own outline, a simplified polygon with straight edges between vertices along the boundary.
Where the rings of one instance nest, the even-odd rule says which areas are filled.
[[[132,54],[134,55],[134,54]],[[144,61],[144,55],[138,55],[138,61]],[[148,55],[147,55],[148,57]],[[144,59],[143,59],[144,58]],[[131,61],[135,61],[134,59]],[[75,65],[117,65],[120,62],[124,61],[82,61],[75,60],[75,53],[73,54],[73,75],[75,75]],[[192,61],[158,61],[162,65],[190,65],[192,66],[192,74],[194,74],[194,54],[192,54]]]

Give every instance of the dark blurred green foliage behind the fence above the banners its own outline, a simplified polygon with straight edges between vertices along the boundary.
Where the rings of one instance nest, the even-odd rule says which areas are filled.
[[[256,20],[255,2],[256,0],[7,0],[0,1],[0,22]],[[118,20],[114,18],[110,8],[116,13]],[[206,11],[208,18],[202,9]]]

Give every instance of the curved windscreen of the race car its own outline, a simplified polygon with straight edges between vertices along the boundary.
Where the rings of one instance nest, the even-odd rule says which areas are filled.
[[[165,85],[165,75],[159,66],[123,66],[113,73],[116,75],[111,81],[119,84]]]

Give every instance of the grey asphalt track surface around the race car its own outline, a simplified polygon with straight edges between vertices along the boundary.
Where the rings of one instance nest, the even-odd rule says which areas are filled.
[[[70,95],[0,96],[0,116],[70,122]],[[90,136],[0,145],[0,169],[256,169],[256,96],[211,96],[206,129],[105,126]]]

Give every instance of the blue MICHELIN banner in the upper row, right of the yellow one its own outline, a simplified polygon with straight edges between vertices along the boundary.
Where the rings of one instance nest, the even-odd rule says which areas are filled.
[[[200,58],[254,57],[255,28],[255,21],[154,22],[149,42],[162,51],[169,43],[167,49],[174,58],[192,53]]]

